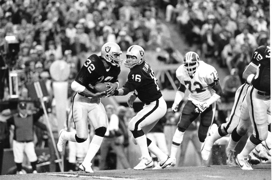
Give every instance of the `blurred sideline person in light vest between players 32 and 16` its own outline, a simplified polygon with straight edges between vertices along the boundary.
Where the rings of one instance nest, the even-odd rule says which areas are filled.
[[[107,105],[105,107],[106,113],[109,120],[109,125],[107,127],[106,134],[104,136],[103,142],[101,144],[101,148],[103,151],[100,151],[100,162],[99,169],[105,170],[106,167],[106,158],[109,153],[110,148],[112,148],[119,157],[119,161],[122,163],[124,169],[130,168],[128,160],[126,158],[122,142],[120,141],[120,136],[122,135],[122,131],[119,129],[119,119],[118,116],[114,113],[115,108],[112,105]]]

